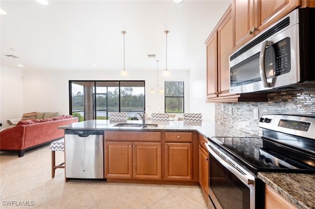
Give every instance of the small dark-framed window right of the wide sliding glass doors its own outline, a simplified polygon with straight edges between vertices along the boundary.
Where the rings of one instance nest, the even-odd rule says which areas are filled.
[[[184,81],[165,81],[165,112],[184,113]]]

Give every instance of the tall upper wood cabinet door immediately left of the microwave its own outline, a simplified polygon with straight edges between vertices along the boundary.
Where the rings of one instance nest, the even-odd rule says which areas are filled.
[[[218,28],[218,80],[219,97],[231,96],[229,55],[233,52],[233,27],[231,12],[227,13]]]

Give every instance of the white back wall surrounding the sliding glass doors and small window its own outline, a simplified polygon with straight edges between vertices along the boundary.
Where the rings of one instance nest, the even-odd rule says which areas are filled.
[[[162,74],[160,70],[159,74]],[[189,112],[189,71],[173,71],[172,77],[159,77],[159,85],[164,87],[164,80],[183,80],[185,82],[185,111]],[[164,94],[150,94],[150,89],[157,85],[157,72],[129,72],[129,77],[120,77],[114,71],[25,71],[24,111],[58,111],[69,113],[69,80],[145,80],[146,113],[164,111]]]

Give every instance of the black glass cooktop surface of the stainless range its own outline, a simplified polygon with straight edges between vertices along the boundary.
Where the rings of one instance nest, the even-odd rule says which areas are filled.
[[[299,142],[299,146],[289,148],[281,141],[260,137],[212,137],[211,141],[254,174],[258,171],[315,173],[314,155],[305,155],[298,148],[313,146],[313,143]],[[297,142],[293,140],[293,144]]]

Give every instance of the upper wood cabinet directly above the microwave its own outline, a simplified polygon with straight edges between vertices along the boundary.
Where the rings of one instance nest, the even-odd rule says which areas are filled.
[[[298,6],[314,3],[310,0],[232,0],[233,51]]]

